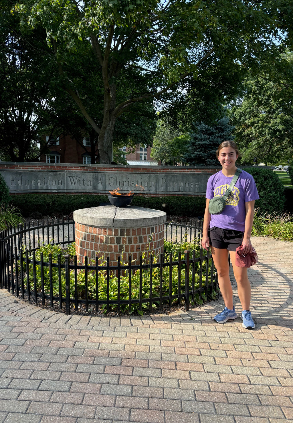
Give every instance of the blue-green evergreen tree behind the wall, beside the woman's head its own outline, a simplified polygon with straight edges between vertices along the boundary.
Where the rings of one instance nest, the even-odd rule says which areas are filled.
[[[234,139],[231,133],[235,126],[229,124],[229,118],[219,119],[211,126],[203,122],[193,125],[184,162],[191,166],[218,166],[216,149],[223,141]]]

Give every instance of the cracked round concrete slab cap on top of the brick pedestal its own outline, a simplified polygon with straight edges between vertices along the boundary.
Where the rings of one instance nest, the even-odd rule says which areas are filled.
[[[166,221],[166,213],[144,207],[111,205],[75,210],[73,219],[81,225],[97,228],[139,228],[161,225]]]

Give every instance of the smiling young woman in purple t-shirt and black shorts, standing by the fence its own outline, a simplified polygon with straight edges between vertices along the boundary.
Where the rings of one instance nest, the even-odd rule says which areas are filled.
[[[235,162],[238,158],[238,148],[233,141],[222,142],[216,156],[222,165],[222,170],[208,179],[206,190],[206,208],[203,221],[202,246],[211,253],[218,272],[219,288],[225,302],[225,309],[214,317],[219,323],[236,319],[233,306],[232,286],[229,277],[228,254],[233,266],[238,287],[238,296],[242,306],[242,326],[253,329],[255,323],[249,310],[251,287],[247,277],[247,268],[235,265],[235,251],[239,245],[244,247],[244,255],[252,250],[250,241],[253,209],[259,196],[253,177],[242,170],[236,184],[226,200],[225,209],[220,214],[210,214],[209,201],[214,197],[222,197],[237,170]]]

